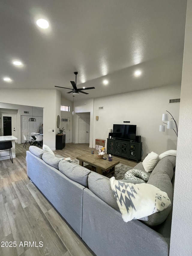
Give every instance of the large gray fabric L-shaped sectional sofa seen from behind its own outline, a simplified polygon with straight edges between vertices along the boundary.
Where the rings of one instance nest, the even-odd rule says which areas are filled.
[[[26,162],[29,178],[96,255],[169,255],[172,206],[148,221],[124,222],[108,178],[35,146],[26,152]],[[166,156],[148,173],[148,183],[171,202],[175,162],[176,157]],[[144,170],[142,163],[135,169]]]

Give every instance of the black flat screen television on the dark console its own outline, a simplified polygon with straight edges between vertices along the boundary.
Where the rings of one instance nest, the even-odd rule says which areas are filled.
[[[113,125],[113,137],[123,140],[135,140],[137,125]]]

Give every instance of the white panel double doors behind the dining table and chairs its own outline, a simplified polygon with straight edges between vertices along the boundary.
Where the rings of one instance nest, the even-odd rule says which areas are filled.
[[[39,132],[41,125],[43,124],[43,116],[33,116],[36,119],[36,122],[29,121],[31,116],[21,116],[21,143],[24,143],[23,134],[26,139],[29,139],[32,132]]]

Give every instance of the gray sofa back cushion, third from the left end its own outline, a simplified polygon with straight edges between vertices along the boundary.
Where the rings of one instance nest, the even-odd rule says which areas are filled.
[[[61,160],[58,165],[58,170],[68,178],[85,187],[88,187],[88,174],[90,173],[90,170],[86,169],[85,167]]]

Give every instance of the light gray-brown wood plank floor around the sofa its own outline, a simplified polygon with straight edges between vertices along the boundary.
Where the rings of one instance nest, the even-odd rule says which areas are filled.
[[[95,255],[30,182],[25,160],[28,149],[28,145],[25,149],[23,144],[16,143],[13,164],[9,159],[0,161],[0,255]],[[91,150],[88,144],[67,143],[63,150],[55,150],[55,153],[74,160],[76,156],[91,153]],[[114,158],[130,167],[137,164],[123,158]],[[24,242],[29,241],[36,244],[28,247],[26,243],[24,246]],[[40,241],[43,247],[38,247]]]

